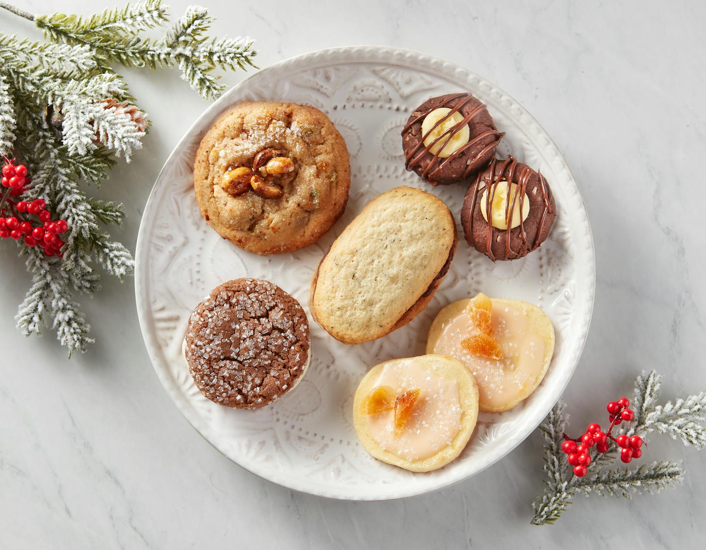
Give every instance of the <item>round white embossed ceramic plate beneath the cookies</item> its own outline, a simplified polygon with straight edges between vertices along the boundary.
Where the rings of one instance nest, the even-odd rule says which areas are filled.
[[[308,313],[309,283],[323,252],[379,193],[406,184],[436,193],[457,218],[465,186],[432,188],[406,172],[400,130],[434,95],[467,90],[484,101],[512,153],[547,177],[558,217],[541,248],[493,263],[467,246],[431,304],[412,323],[362,345],[337,342],[311,322],[313,358],[301,384],[270,407],[238,411],[206,400],[181,357],[192,309],[216,285],[237,277],[268,279]],[[318,107],[342,133],[352,184],[342,219],[318,243],[294,253],[256,256],[236,248],[201,218],[193,196],[193,157],[223,109],[241,100],[286,100]],[[500,460],[542,421],[572,375],[590,324],[595,286],[591,229],[582,198],[556,145],[503,90],[475,73],[427,55],[383,47],[327,49],[282,61],[229,90],[201,115],[164,164],[140,225],[136,299],[152,364],[179,410],[203,437],[253,474],[306,493],[350,500],[422,494],[477,474]],[[352,399],[366,369],[424,352],[433,316],[478,291],[537,304],[556,328],[556,350],[539,388],[515,409],[481,413],[467,448],[450,465],[412,474],[371,458],[352,426]],[[309,316],[311,320],[311,316]]]

